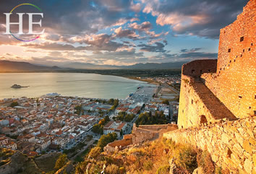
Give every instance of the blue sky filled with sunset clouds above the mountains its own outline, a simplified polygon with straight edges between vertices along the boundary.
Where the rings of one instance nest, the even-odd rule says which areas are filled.
[[[22,3],[38,6],[42,35],[18,35],[17,25],[6,32],[6,15]],[[1,0],[0,60],[58,66],[71,62],[101,65],[166,63],[218,57],[219,30],[242,13],[247,0]],[[16,13],[40,13],[19,6]],[[28,16],[23,16],[23,32]]]

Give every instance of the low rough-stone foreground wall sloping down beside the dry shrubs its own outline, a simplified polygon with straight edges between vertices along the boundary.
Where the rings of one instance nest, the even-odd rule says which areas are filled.
[[[163,137],[207,149],[213,162],[234,173],[256,173],[256,117],[178,129]]]

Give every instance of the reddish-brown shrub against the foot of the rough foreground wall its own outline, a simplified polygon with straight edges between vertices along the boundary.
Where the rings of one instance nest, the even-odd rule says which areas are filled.
[[[197,154],[197,164],[202,167],[205,174],[214,173],[214,163],[208,151],[203,151]]]

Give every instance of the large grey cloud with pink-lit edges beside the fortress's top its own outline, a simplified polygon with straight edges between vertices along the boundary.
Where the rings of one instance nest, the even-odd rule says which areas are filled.
[[[236,19],[247,1],[142,0],[142,12],[155,16],[158,25],[170,25],[177,34],[218,38],[219,30]]]

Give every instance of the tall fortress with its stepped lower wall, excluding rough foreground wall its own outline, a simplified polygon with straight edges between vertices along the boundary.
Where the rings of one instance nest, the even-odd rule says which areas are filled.
[[[218,60],[182,66],[179,128],[256,114],[256,1],[221,29]]]

